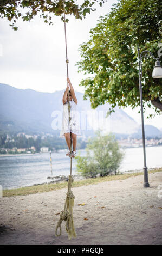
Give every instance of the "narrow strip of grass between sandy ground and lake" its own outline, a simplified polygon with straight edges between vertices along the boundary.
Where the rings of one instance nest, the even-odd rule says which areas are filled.
[[[162,172],[162,168],[148,171],[148,173],[155,173],[155,172]],[[111,175],[106,177],[98,177],[93,179],[79,180],[79,181],[74,181],[72,186],[73,187],[88,186],[91,184],[98,184],[100,182],[106,182],[111,180],[124,180],[124,179],[135,177],[138,175],[143,175],[143,172],[126,173],[126,174]],[[49,192],[54,190],[60,190],[61,188],[67,188],[67,182],[61,182],[56,184],[50,183],[50,184],[35,185],[30,187],[14,188],[12,190],[3,190],[3,197],[26,196],[27,194]]]

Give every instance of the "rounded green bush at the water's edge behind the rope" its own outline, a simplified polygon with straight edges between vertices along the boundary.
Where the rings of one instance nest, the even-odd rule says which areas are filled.
[[[116,173],[124,157],[112,133],[106,136],[101,136],[100,132],[96,133],[96,136],[89,140],[86,152],[84,157],[76,156],[77,171],[86,178]]]

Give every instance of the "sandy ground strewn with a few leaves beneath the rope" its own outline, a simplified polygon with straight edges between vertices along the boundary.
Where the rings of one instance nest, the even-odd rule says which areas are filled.
[[[73,188],[76,239],[65,222],[55,237],[66,189],[0,198],[0,243],[51,245],[162,244],[162,172]],[[81,206],[79,204],[85,203]],[[87,218],[88,220],[84,220]]]

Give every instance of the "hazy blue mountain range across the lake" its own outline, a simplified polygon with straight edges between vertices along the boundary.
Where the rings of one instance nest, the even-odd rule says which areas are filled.
[[[54,93],[36,92],[32,89],[17,89],[0,83],[0,133],[25,132],[60,134],[62,125],[62,96],[64,90]],[[112,131],[116,136],[141,137],[140,125],[118,106],[106,118],[110,105],[90,108],[90,101],[83,100],[83,93],[75,92],[78,103],[82,136],[92,136],[94,130]],[[162,136],[152,125],[145,125],[145,136]]]

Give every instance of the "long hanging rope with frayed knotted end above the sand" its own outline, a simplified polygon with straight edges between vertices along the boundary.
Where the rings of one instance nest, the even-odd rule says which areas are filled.
[[[68,54],[67,54],[67,37],[66,37],[66,22],[65,22],[65,8],[64,8],[64,1],[63,1],[63,11],[64,11],[64,36],[65,36],[65,45],[66,45],[66,65],[67,65],[67,77],[69,77],[69,72],[68,72]],[[68,91],[68,112],[69,112],[69,124],[70,124],[70,97],[69,97],[69,91]],[[72,132],[70,132],[70,153],[72,153]],[[69,180],[68,180],[68,192],[66,196],[66,201],[64,204],[64,210],[61,211],[60,213],[60,220],[57,223],[56,230],[55,230],[55,235],[60,236],[61,235],[61,224],[62,221],[66,221],[66,231],[68,233],[69,239],[72,237],[76,237],[75,233],[75,228],[74,228],[74,223],[73,223],[73,206],[74,206],[74,195],[71,190],[72,187],[72,182],[73,182],[73,177],[72,177],[72,157],[70,157],[70,175],[69,175]],[[60,229],[60,233],[57,234],[58,229]]]

